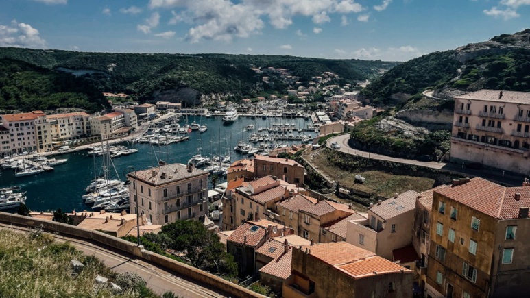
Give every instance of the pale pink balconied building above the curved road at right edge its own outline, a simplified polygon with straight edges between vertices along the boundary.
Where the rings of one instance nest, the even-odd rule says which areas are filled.
[[[450,160],[530,173],[530,92],[479,90],[455,97]]]

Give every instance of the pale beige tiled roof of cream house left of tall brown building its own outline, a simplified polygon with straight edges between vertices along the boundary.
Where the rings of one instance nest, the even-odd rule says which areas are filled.
[[[413,210],[418,195],[420,193],[414,190],[407,190],[405,193],[400,193],[397,198],[392,197],[383,201],[381,205],[374,205],[370,208],[370,212],[380,216],[381,219],[392,219],[394,216]]]

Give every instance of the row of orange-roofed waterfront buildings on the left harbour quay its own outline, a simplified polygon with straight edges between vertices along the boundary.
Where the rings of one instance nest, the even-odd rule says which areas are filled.
[[[119,108],[103,116],[85,112],[47,115],[33,111],[0,117],[0,157],[51,151],[72,140],[119,138],[138,128],[134,111]]]

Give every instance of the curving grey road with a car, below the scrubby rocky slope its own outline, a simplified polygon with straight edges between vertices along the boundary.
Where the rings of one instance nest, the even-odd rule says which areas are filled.
[[[361,151],[361,150],[350,147],[348,145],[349,139],[350,139],[350,134],[341,134],[339,136],[330,138],[326,142],[326,146],[330,148],[331,143],[337,142],[341,147],[339,151],[347,153],[347,154],[361,156],[363,158],[372,158],[375,160],[386,160],[389,162],[398,162],[400,164],[411,164],[414,166],[424,166],[426,168],[450,171],[450,172],[468,176],[468,177],[482,177],[492,182],[496,182],[498,184],[505,184],[507,186],[521,186],[522,182],[525,179],[524,175],[520,175],[516,173],[505,173],[502,170],[499,170],[499,171],[492,171],[488,169],[475,170],[475,169],[468,169],[464,167],[463,164],[453,164],[453,163],[444,163],[444,162],[420,162],[420,160],[409,160],[406,158],[394,158],[392,156],[384,156],[382,154]]]

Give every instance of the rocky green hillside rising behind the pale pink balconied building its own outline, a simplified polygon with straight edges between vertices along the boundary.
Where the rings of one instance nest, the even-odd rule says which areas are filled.
[[[530,29],[415,58],[376,79],[363,95],[393,106],[426,88],[447,99],[481,88],[530,91]]]

